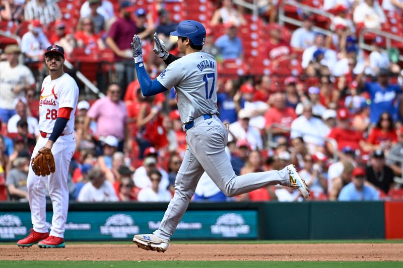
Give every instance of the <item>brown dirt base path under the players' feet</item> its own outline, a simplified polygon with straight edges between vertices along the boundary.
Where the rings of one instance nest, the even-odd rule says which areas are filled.
[[[1,260],[403,260],[403,244],[171,244],[165,253],[134,244],[0,245]]]

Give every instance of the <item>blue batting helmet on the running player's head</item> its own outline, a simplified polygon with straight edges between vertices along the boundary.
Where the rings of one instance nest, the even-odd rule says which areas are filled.
[[[171,32],[171,35],[187,37],[196,46],[203,46],[206,41],[206,29],[203,24],[196,21],[181,21],[178,29]]]

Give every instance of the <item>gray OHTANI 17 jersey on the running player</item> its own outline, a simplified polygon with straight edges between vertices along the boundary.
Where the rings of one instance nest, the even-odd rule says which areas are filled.
[[[201,115],[218,114],[217,62],[204,52],[175,60],[157,77],[166,88],[175,87],[180,120],[189,123]]]

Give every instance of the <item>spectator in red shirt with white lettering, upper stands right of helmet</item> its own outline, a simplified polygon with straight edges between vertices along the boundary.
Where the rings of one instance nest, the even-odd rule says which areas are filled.
[[[289,59],[292,49],[290,45],[281,39],[281,26],[270,24],[270,37],[265,41],[265,53],[270,60],[281,61]]]

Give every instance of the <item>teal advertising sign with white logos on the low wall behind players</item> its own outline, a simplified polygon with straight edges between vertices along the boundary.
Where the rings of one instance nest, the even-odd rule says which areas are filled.
[[[50,227],[52,214],[46,219]],[[158,229],[164,212],[159,211],[73,211],[65,225],[65,239],[76,241],[130,240],[139,233]],[[25,237],[31,224],[29,212],[0,212],[0,241]],[[188,211],[178,224],[176,239],[256,239],[256,211]]]

